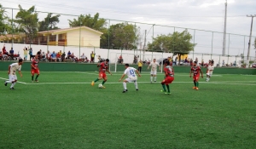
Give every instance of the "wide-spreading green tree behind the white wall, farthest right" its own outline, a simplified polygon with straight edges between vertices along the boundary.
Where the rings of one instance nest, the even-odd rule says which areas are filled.
[[[173,55],[178,56],[180,64],[181,55],[189,54],[189,51],[194,50],[195,44],[190,43],[191,39],[188,30],[160,35],[154,38],[153,43],[148,43],[148,49],[172,52]]]

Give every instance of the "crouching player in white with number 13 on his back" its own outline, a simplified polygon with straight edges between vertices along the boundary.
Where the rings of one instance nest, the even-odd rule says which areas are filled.
[[[127,78],[125,78],[125,80],[123,81],[123,86],[124,86],[124,91],[123,93],[127,92],[128,89],[126,88],[126,83],[134,83],[134,86],[137,89],[137,75],[138,77],[141,77],[140,73],[137,71],[137,69],[133,68],[133,67],[129,67],[129,64],[125,64],[125,72],[122,75],[122,77],[119,79],[119,82],[122,81],[122,79],[125,77],[125,75],[127,75]]]

